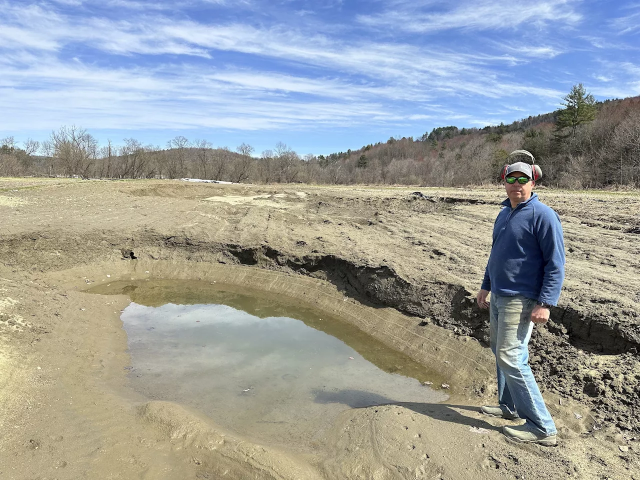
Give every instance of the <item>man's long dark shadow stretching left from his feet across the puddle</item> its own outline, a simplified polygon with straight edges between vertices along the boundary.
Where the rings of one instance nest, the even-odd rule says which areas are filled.
[[[435,420],[444,422],[453,422],[461,425],[467,425],[476,428],[486,428],[488,430],[501,431],[499,427],[485,422],[484,420],[467,417],[457,412],[458,410],[467,410],[468,412],[479,413],[479,407],[468,405],[452,405],[445,403],[419,403],[419,402],[398,402],[390,398],[378,395],[373,392],[365,392],[364,390],[312,390],[312,394],[316,396],[316,403],[342,403],[351,408],[368,408],[371,406],[399,405],[413,412],[426,415]]]

